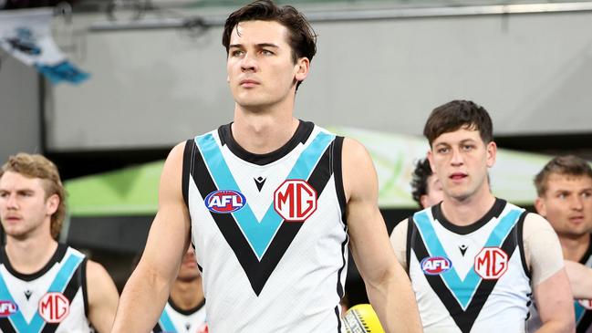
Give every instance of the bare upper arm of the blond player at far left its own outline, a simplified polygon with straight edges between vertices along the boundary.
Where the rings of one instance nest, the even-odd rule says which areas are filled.
[[[87,262],[88,320],[99,333],[113,326],[119,293],[109,273],[99,263]]]

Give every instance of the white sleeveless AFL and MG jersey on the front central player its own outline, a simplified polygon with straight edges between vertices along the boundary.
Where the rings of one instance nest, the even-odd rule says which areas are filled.
[[[304,121],[263,155],[244,151],[230,125],[187,141],[183,194],[211,331],[341,331],[342,143]]]

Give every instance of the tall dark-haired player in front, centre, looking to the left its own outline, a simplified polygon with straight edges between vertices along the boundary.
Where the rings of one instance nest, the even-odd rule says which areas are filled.
[[[378,208],[369,153],[294,118],[316,36],[294,7],[255,1],[224,26],[234,121],[177,145],[115,332],[147,331],[195,247],[213,332],[337,332],[348,250],[389,332],[421,330]],[[191,236],[190,236],[191,234]]]

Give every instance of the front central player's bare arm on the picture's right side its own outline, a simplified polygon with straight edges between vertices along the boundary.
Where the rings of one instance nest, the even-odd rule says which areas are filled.
[[[342,158],[350,247],[370,303],[387,332],[421,332],[409,277],[395,258],[379,211],[378,180],[369,154],[346,139]]]

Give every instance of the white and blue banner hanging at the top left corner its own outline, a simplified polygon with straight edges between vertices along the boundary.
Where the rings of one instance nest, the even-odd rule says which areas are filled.
[[[89,75],[76,68],[51,37],[51,8],[0,11],[0,47],[51,83],[80,83]]]

